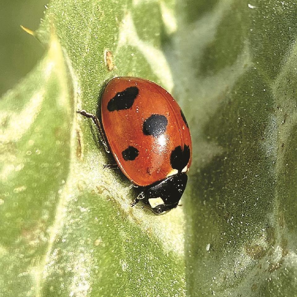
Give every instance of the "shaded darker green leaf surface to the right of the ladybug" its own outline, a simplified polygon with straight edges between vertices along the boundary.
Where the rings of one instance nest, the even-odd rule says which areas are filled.
[[[297,7],[192,0],[177,11],[167,53],[196,156],[188,294],[296,296]]]

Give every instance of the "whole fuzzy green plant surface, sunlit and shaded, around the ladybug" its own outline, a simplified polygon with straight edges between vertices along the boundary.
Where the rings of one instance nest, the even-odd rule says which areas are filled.
[[[0,296],[297,296],[294,1],[52,0],[34,36],[44,57],[0,99]],[[115,76],[160,84],[189,123],[165,215],[131,208],[76,113]]]

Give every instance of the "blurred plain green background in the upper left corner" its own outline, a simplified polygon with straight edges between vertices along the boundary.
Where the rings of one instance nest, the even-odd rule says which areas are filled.
[[[0,95],[19,82],[41,59],[45,48],[20,28],[36,30],[46,2],[0,2]]]

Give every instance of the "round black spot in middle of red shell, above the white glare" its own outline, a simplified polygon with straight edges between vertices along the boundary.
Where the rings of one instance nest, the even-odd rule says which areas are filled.
[[[159,137],[166,131],[168,121],[164,115],[152,114],[143,123],[143,133],[144,135],[152,135],[154,137]]]

